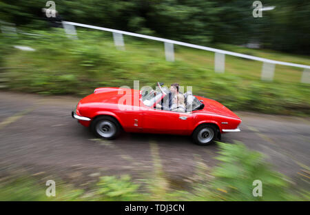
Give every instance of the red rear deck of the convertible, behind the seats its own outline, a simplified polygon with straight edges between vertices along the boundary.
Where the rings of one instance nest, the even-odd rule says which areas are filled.
[[[229,116],[232,118],[240,119],[239,116],[234,114],[231,110],[229,110],[227,107],[225,107],[223,104],[213,100],[213,99],[207,99],[200,96],[196,96],[197,99],[203,100],[203,103],[205,104],[205,107],[203,107],[202,112],[208,112],[212,114],[220,114],[223,116]]]

